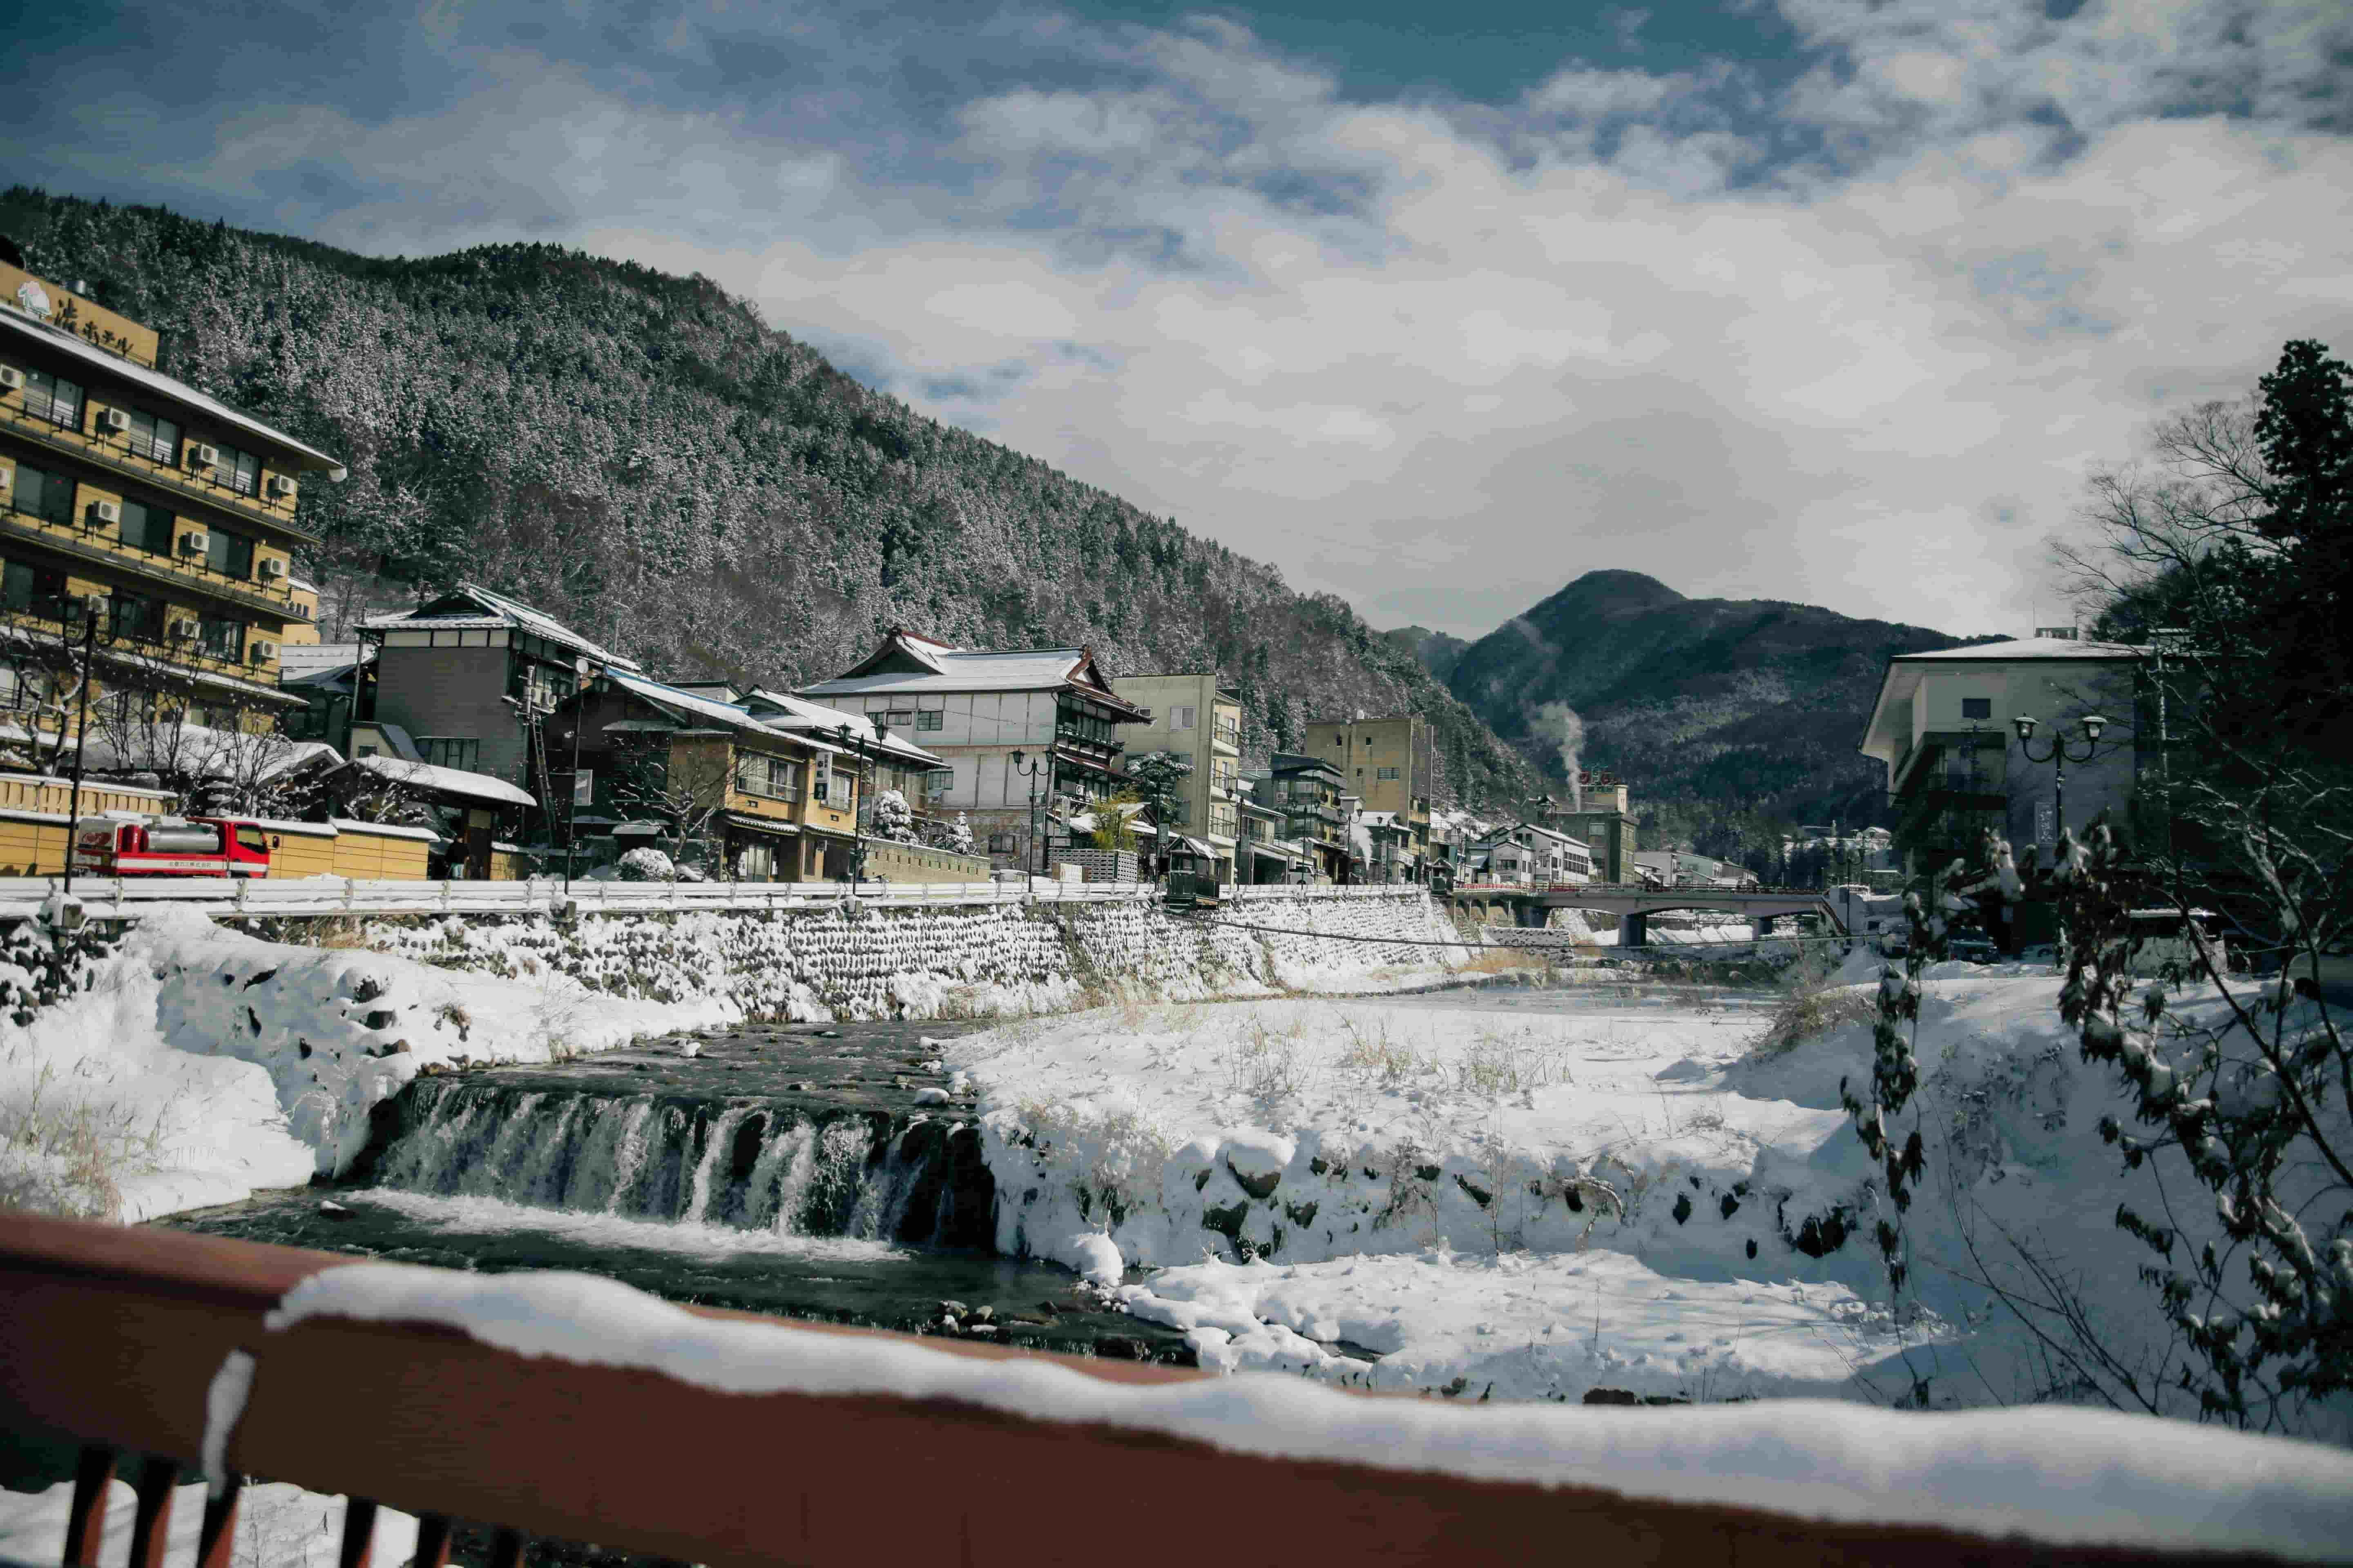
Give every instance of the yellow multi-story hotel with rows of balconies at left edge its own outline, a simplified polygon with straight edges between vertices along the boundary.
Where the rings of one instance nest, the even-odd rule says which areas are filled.
[[[266,729],[308,630],[294,522],[325,451],[155,369],[158,336],[0,263],[0,708],[64,733],[92,642],[94,712]],[[94,625],[85,621],[94,616]]]

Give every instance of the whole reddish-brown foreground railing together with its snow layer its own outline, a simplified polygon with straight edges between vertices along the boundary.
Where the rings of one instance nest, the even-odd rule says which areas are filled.
[[[0,1425],[80,1446],[68,1563],[136,1476],[134,1563],[209,1469],[694,1563],[2329,1559],[2353,1458],[2082,1410],[1619,1410],[1202,1378],[471,1274],[0,1213]],[[649,1436],[654,1441],[649,1441]],[[2195,1458],[2193,1458],[2195,1455]],[[1172,1509],[1193,1526],[1155,1528]]]

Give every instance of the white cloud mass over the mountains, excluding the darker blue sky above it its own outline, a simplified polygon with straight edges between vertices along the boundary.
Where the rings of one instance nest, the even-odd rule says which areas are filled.
[[[1226,24],[1066,24],[1054,47],[1120,85],[955,106],[932,150],[969,183],[522,61],[454,115],[240,125],[216,167],[334,155],[428,186],[433,212],[327,235],[372,249],[560,214],[1377,623],[1480,632],[1626,567],[2019,630],[2087,463],[2167,402],[2245,390],[2289,336],[2353,348],[2353,143],[2313,66],[2346,24],[1786,12],[1831,54],[1777,113],[1831,150],[1767,181],[1727,71],[1367,103]]]

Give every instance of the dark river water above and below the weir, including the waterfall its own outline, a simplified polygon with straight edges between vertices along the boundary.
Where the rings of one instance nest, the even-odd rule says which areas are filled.
[[[944,1088],[953,1023],[746,1025],[421,1077],[336,1187],[172,1215],[209,1234],[466,1269],[581,1269],[671,1300],[1186,1359],[1061,1267],[995,1258],[995,1187]],[[687,1046],[694,1056],[687,1056]],[[934,1095],[936,1098],[936,1095]]]

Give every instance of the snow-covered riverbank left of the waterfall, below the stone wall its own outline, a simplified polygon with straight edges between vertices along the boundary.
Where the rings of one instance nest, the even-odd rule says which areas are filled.
[[[729,1016],[158,910],[87,992],[0,1020],[0,1201],[122,1220],[228,1204],[341,1171],[369,1110],[428,1065],[539,1063]]]

